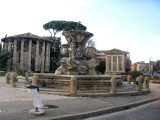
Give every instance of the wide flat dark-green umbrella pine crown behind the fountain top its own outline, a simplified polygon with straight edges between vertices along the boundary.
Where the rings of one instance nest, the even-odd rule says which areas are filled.
[[[52,32],[55,37],[55,35],[61,31],[69,31],[69,30],[76,30],[76,29],[81,29],[85,31],[87,29],[87,27],[82,25],[80,22],[59,21],[59,20],[50,21],[44,24],[43,28],[45,30],[48,30],[51,33],[51,37],[52,37]]]

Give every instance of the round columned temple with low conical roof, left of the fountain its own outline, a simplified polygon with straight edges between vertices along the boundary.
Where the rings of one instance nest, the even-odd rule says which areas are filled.
[[[13,58],[8,64],[10,71],[49,72],[52,41],[31,33],[2,39],[3,52],[11,51]]]

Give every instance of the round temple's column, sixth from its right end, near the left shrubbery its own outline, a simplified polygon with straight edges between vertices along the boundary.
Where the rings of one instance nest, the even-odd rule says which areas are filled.
[[[17,40],[14,40],[14,50],[13,50],[13,71],[16,71],[17,62]]]

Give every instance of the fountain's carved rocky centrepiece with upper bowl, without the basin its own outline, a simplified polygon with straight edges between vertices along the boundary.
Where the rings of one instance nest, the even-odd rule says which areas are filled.
[[[60,67],[55,71],[56,75],[96,75],[95,68],[99,62],[92,55],[91,60],[86,59],[85,46],[87,41],[93,36],[92,33],[79,29],[64,31],[62,33],[67,40],[70,53],[68,58],[60,60]]]

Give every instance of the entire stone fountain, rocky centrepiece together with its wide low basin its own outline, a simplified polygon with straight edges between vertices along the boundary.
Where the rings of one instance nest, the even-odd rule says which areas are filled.
[[[95,54],[91,59],[86,56],[85,46],[93,36],[92,33],[81,30],[79,23],[75,30],[63,31],[62,35],[69,45],[69,57],[60,60],[60,67],[53,73],[33,73],[38,75],[39,87],[71,89],[72,79],[76,80],[77,90],[106,90],[110,88],[110,80],[113,75],[97,75],[95,68],[99,62]],[[123,77],[114,75],[117,86],[120,86]]]

